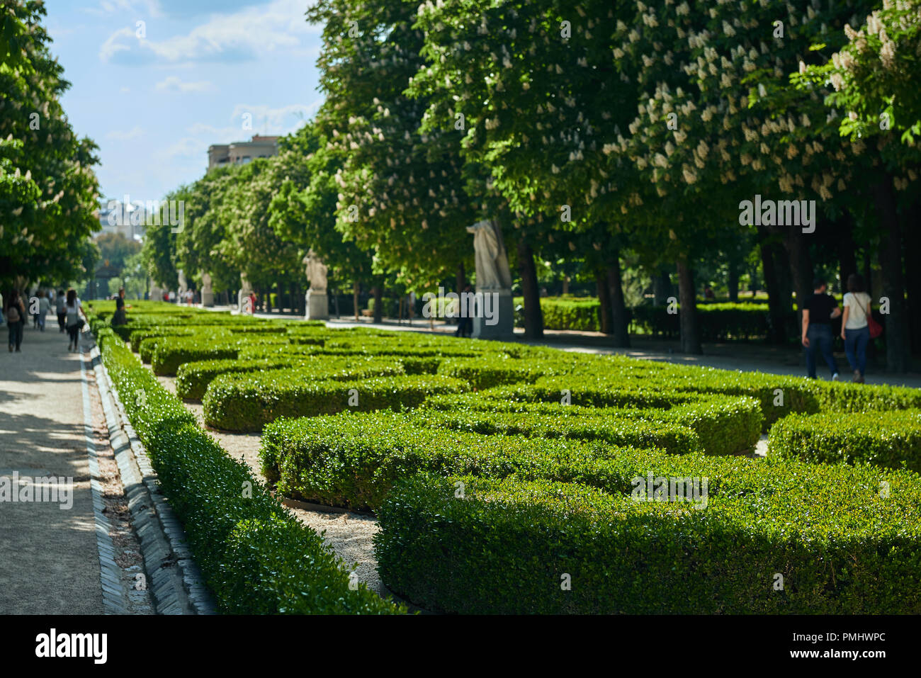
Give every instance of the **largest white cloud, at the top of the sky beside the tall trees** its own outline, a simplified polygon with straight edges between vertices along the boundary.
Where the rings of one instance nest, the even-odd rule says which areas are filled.
[[[304,0],[274,0],[266,6],[246,7],[232,14],[212,15],[185,35],[165,40],[140,40],[135,59],[167,63],[233,61],[302,47],[301,38],[317,34],[321,27],[304,18]],[[99,57],[108,61],[134,50],[129,40],[134,31],[119,29],[103,44]]]

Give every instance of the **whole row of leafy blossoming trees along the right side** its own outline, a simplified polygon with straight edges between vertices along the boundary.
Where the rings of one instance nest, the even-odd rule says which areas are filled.
[[[321,0],[308,11],[323,26],[316,119],[277,158],[169,196],[189,201],[190,227],[151,234],[146,257],[163,282],[181,264],[233,287],[240,272],[301,279],[312,247],[378,294],[384,276],[425,291],[452,275],[460,285],[463,227],[490,217],[531,336],[539,257],[594,276],[602,325],[627,345],[629,258],[677,277],[682,350],[699,352],[695,269],[726,262],[738,278],[754,246],[777,340],[817,267],[878,269],[887,359],[904,369],[910,338],[921,342],[921,275],[903,258],[921,194],[919,10]],[[740,217],[756,195],[815,201],[814,228]]]

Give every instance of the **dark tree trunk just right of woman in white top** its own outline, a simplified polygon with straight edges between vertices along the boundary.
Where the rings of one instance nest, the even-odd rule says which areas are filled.
[[[880,276],[882,294],[889,298],[886,322],[886,368],[891,372],[908,369],[908,318],[902,274],[902,225],[895,211],[892,177],[873,187],[876,212],[880,216]]]

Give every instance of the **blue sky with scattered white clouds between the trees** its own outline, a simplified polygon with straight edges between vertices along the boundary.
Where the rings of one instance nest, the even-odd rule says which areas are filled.
[[[204,175],[211,144],[312,117],[321,28],[304,18],[309,2],[46,0],[71,82],[64,111],[99,145],[103,197],[160,199]]]

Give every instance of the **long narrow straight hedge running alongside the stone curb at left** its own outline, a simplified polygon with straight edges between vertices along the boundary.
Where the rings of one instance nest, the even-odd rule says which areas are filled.
[[[192,555],[230,614],[398,614],[364,584],[349,585],[341,562],[242,462],[197,427],[182,403],[102,329],[102,359],[144,442]],[[114,341],[111,341],[114,339]],[[132,394],[143,390],[144,399]],[[251,496],[243,490],[251,488]]]

